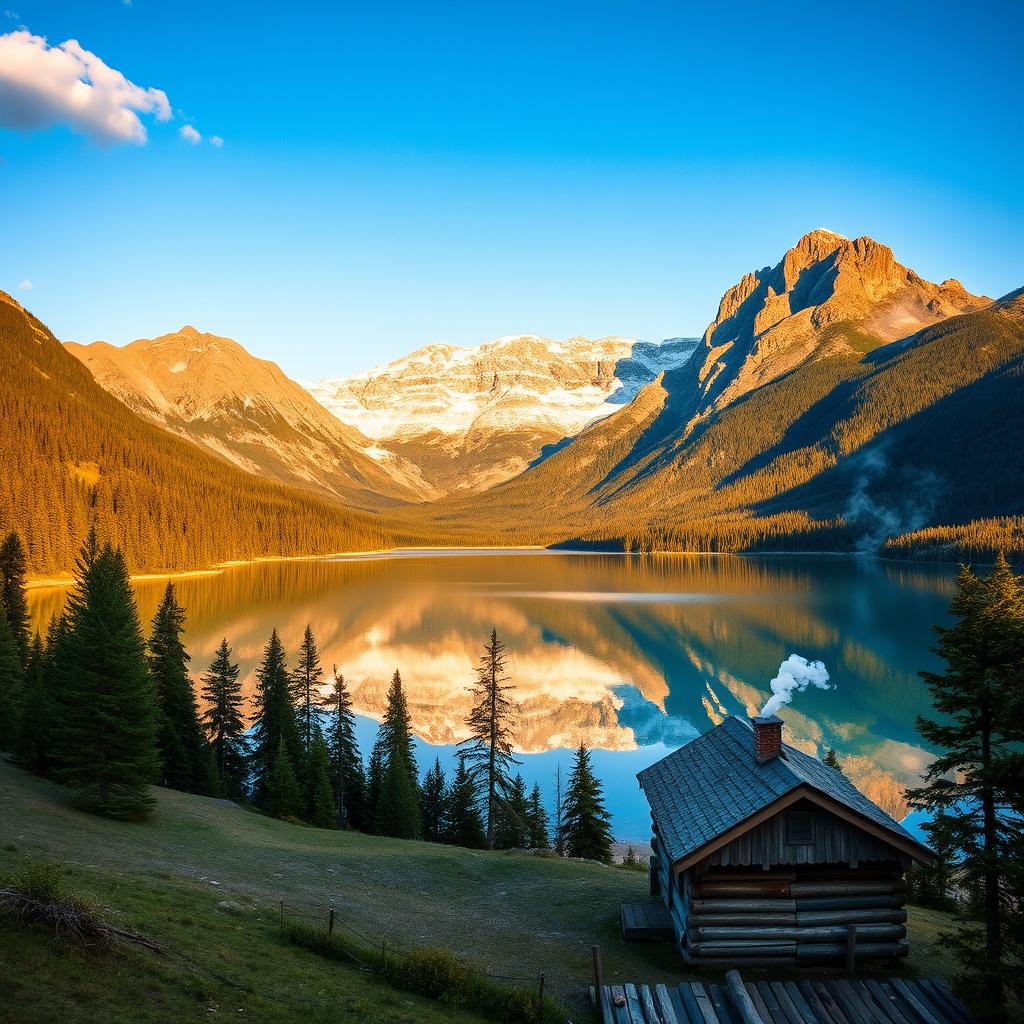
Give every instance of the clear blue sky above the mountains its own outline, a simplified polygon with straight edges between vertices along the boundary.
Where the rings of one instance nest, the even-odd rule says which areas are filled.
[[[0,288],[65,339],[188,323],[315,379],[699,334],[818,226],[1024,284],[1016,0],[7,2],[0,33],[78,40],[171,114],[138,111],[145,144],[0,127]]]

